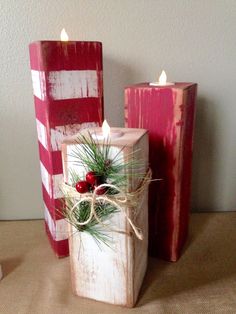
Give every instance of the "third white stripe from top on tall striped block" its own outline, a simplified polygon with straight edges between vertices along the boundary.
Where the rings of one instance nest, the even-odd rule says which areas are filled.
[[[42,182],[51,198],[62,198],[61,183],[63,182],[63,174],[50,175],[43,163],[40,162]],[[52,184],[51,184],[52,182]]]

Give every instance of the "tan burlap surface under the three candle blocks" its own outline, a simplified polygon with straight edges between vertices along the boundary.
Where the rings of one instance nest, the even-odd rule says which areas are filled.
[[[73,296],[41,220],[0,222],[0,263],[1,314],[236,313],[236,212],[192,214],[183,256],[149,260],[134,309]]]

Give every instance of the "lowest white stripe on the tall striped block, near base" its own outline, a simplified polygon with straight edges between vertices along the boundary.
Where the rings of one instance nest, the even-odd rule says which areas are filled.
[[[48,225],[48,229],[55,241],[68,239],[68,223],[65,219],[53,221],[47,206],[44,204],[44,217]]]

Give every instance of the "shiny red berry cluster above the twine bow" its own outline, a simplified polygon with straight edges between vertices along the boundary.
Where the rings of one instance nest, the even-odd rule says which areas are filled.
[[[86,174],[84,181],[78,181],[75,185],[76,190],[79,193],[92,192],[96,187],[102,184],[101,176],[98,176],[94,171],[89,171]],[[97,195],[102,195],[106,193],[107,189],[105,187],[98,188],[96,190]]]

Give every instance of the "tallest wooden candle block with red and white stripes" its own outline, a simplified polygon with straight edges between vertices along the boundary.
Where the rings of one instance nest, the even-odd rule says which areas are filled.
[[[58,212],[63,201],[61,143],[103,120],[102,44],[39,41],[29,50],[45,226],[53,250],[62,257],[69,249],[67,224]]]

